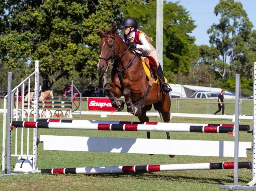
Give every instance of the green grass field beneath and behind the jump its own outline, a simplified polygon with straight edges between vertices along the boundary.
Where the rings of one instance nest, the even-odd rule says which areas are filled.
[[[184,100],[181,100],[184,101]],[[197,101],[197,100],[196,100]],[[215,102],[216,100],[213,100]],[[174,103],[175,104],[175,103]],[[171,112],[175,111],[173,104]],[[82,103],[82,111],[86,111],[85,102]],[[212,104],[211,113],[217,110],[217,104]],[[233,108],[232,108],[233,107]],[[181,113],[206,113],[206,105],[189,104],[180,105]],[[154,111],[154,110],[152,110]],[[243,114],[252,114],[252,100],[243,102]],[[234,114],[234,106],[226,105],[227,114]],[[225,113],[226,113],[225,112]],[[209,112],[210,113],[210,112]],[[2,124],[2,115],[0,115]],[[78,115],[74,115],[78,118]],[[83,115],[82,119],[88,120],[127,120],[138,121],[134,116],[109,116],[100,118],[96,115]],[[158,117],[150,117],[151,122],[160,122]],[[199,119],[199,118],[172,118],[171,122],[187,123],[232,123],[231,120]],[[241,120],[240,124],[252,124],[251,120]],[[20,129],[19,129],[20,131]],[[2,126],[0,127],[2,137]],[[26,131],[24,131],[26,132]],[[15,132],[13,132],[14,134]],[[96,137],[129,137],[146,138],[145,132],[121,132],[121,131],[83,131],[63,129],[39,129],[39,135],[69,135],[69,136],[96,136]],[[252,135],[240,132],[240,141],[251,141]],[[15,143],[13,136],[13,145]],[[32,138],[32,130],[30,130]],[[162,132],[151,133],[152,138],[166,138]],[[26,133],[24,133],[26,140]],[[203,133],[171,133],[171,139],[184,140],[225,140],[232,141],[232,135],[227,134],[203,134]],[[26,143],[26,141],[25,141]],[[32,143],[32,142],[31,142]],[[20,145],[20,142],[18,142]],[[20,147],[18,147],[18,153]],[[12,148],[14,149],[14,147]],[[24,149],[26,151],[26,147]],[[32,151],[32,144],[30,145]],[[96,167],[96,166],[125,166],[147,164],[183,164],[204,162],[232,162],[234,158],[204,157],[204,156],[175,156],[169,158],[166,155],[139,155],[125,153],[87,153],[70,151],[44,151],[43,144],[39,144],[38,152],[39,169],[58,167]],[[239,158],[239,161],[250,161],[252,152],[247,151],[247,158]],[[17,158],[12,157],[11,167],[14,169]],[[1,172],[0,172],[1,173]],[[4,173],[4,172],[2,172]],[[233,184],[234,170],[200,170],[200,171],[169,171],[152,173],[129,173],[115,175],[46,175],[46,174],[22,174],[22,177],[0,178],[1,190],[220,190],[220,184]],[[252,178],[251,170],[239,170],[239,184],[247,184]]]

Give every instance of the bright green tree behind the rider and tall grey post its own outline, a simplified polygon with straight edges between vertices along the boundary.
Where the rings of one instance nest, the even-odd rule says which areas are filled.
[[[134,7],[140,7],[134,9]],[[189,33],[195,29],[194,21],[178,3],[164,2],[163,13],[163,69],[166,74],[188,73],[197,58],[195,38]],[[156,37],[156,1],[139,2],[122,9],[124,16],[133,16],[139,28],[148,36]],[[152,42],[155,46],[155,41]]]

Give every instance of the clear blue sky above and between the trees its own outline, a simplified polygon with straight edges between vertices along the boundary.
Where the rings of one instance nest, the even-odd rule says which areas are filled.
[[[169,1],[177,2],[177,0]],[[256,30],[256,0],[235,1],[239,1],[243,4],[243,9],[247,12],[248,17],[254,26],[253,29]],[[219,0],[180,0],[178,2],[189,11],[191,18],[195,20],[197,28],[192,33],[196,38],[195,43],[197,45],[210,45],[207,30],[213,23],[218,23],[218,18],[213,11]]]

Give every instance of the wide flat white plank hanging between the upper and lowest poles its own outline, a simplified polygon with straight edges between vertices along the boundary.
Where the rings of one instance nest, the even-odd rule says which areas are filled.
[[[234,142],[40,135],[45,150],[234,157]],[[247,157],[251,142],[239,142]]]

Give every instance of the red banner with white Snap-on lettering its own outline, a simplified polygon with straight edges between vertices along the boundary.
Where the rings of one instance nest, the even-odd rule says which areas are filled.
[[[88,98],[89,110],[117,111],[111,105],[109,98]]]

